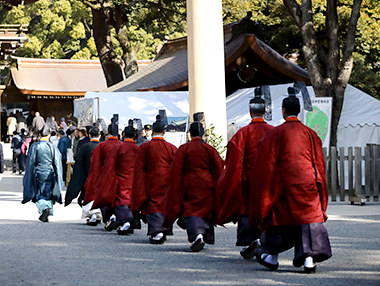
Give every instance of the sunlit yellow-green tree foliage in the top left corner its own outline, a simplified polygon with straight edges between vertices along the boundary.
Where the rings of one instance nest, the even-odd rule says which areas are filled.
[[[30,42],[16,51],[18,56],[57,59],[97,56],[91,47],[91,11],[79,0],[40,0],[28,6],[13,6],[1,23],[29,25]]]

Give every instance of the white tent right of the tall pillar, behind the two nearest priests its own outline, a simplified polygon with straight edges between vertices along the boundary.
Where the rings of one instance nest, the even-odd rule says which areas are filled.
[[[272,120],[277,126],[283,122],[281,104],[292,84],[270,86],[272,96]],[[315,97],[312,87],[308,87],[310,97]],[[249,98],[254,96],[254,88],[240,89],[227,98],[227,124],[229,134],[233,134],[250,121]],[[302,105],[302,100],[300,100]],[[303,114],[299,116],[303,119]],[[380,143],[380,101],[359,89],[348,85],[344,95],[343,108],[338,125],[338,147],[365,147],[367,143]]]

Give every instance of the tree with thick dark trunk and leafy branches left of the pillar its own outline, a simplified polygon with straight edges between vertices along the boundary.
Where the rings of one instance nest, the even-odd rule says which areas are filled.
[[[95,42],[107,77],[107,85],[111,86],[123,79],[121,68],[117,66],[111,28],[115,29],[115,38],[122,50],[125,75],[128,77],[138,71],[137,53],[140,47],[139,45],[133,45],[130,40],[133,23],[137,27],[146,27],[156,33],[170,22],[183,23],[183,21],[179,22],[179,19],[184,17],[184,13],[181,13],[181,8],[183,12],[186,2],[184,0],[162,0],[159,2],[147,0],[116,0],[114,2],[88,0],[85,3],[92,9],[94,26],[99,28],[99,32],[94,33]],[[178,29],[181,25],[170,25],[170,27]],[[163,30],[167,31],[168,29]]]

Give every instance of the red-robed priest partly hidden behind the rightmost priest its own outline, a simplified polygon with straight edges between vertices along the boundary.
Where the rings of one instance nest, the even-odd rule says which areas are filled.
[[[274,127],[264,119],[265,101],[261,89],[255,89],[255,98],[249,102],[251,123],[241,128],[227,145],[226,168],[217,186],[218,223],[237,222],[236,246],[245,246],[240,252],[244,259],[251,259],[260,251],[258,225],[249,226],[249,193],[255,191],[252,173],[255,167],[257,146],[265,134]]]

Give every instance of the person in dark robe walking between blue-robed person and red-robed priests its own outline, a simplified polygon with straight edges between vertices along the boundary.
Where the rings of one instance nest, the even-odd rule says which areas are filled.
[[[78,204],[82,206],[85,197],[85,183],[91,167],[91,152],[98,146],[100,132],[99,128],[93,127],[90,130],[90,142],[84,144],[77,154],[77,159],[74,165],[73,175],[67,186],[65,196],[65,206],[71,204],[72,200],[78,197]],[[87,220],[88,225],[96,226],[101,217],[98,210],[93,210],[89,214]]]

